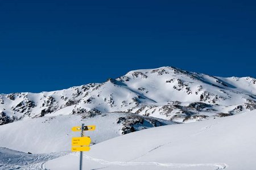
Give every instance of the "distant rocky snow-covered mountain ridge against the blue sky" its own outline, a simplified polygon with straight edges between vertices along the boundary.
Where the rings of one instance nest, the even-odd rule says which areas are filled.
[[[256,79],[160,67],[66,90],[0,95],[0,125],[59,114],[130,112],[179,122],[256,109]]]

